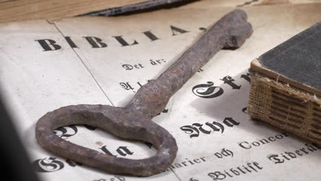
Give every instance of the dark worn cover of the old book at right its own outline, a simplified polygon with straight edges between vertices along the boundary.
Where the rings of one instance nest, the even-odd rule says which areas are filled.
[[[321,22],[259,56],[251,70],[321,96]]]

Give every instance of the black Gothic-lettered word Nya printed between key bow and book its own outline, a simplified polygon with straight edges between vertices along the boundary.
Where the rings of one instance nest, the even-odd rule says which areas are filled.
[[[235,121],[232,117],[226,117],[223,121],[224,125],[227,125],[228,127],[233,127],[234,125],[239,125],[239,122]],[[205,125],[201,123],[193,123],[192,125],[184,125],[180,127],[180,130],[185,132],[186,134],[189,134],[190,138],[198,137],[200,136],[200,132],[204,134],[210,134],[213,132],[224,132],[224,125],[222,123],[218,123],[216,121],[213,121],[213,123],[205,123]],[[208,129],[206,129],[208,128]]]

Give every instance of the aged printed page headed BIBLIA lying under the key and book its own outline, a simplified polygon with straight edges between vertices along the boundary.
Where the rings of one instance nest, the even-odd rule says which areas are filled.
[[[153,119],[178,143],[176,160],[155,176],[115,176],[46,152],[35,139],[36,121],[70,104],[125,106],[233,8],[1,23],[1,93],[44,180],[318,180],[320,147],[250,120],[246,104],[251,60],[320,21],[320,9],[317,3],[243,8],[252,36],[239,49],[219,51]],[[56,134],[120,158],[156,152],[85,125]]]

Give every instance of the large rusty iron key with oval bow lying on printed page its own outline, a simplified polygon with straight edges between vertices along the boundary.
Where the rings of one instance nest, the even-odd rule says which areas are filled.
[[[246,12],[233,10],[219,19],[156,80],[139,88],[124,108],[87,104],[58,108],[38,120],[36,139],[49,152],[108,173],[152,176],[163,172],[173,162],[178,147],[175,138],[151,119],[164,110],[169,98],[219,49],[236,49],[251,34],[252,25],[247,22]],[[117,158],[65,141],[53,133],[57,128],[75,124],[92,125],[121,138],[152,143],[158,151],[150,158],[139,160]]]

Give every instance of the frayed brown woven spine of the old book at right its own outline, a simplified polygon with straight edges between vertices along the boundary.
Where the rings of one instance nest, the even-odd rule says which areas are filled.
[[[321,100],[316,95],[253,73],[248,112],[252,119],[321,145]]]

